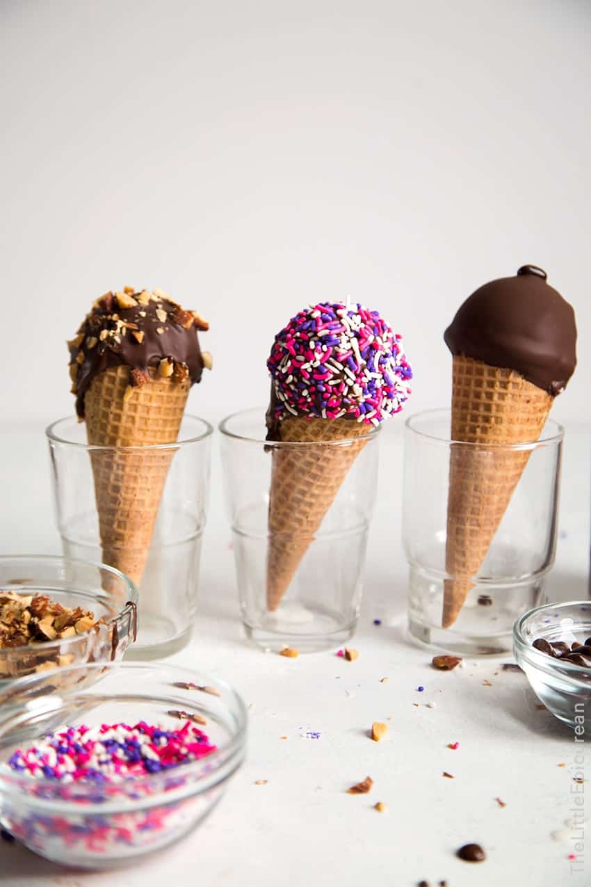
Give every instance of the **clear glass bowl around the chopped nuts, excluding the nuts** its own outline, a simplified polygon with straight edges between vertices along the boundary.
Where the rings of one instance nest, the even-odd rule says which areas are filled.
[[[73,638],[0,648],[0,687],[38,671],[121,659],[136,638],[137,589],[118,569],[73,558],[0,557],[0,593],[46,594],[64,607],[82,607],[105,623]]]

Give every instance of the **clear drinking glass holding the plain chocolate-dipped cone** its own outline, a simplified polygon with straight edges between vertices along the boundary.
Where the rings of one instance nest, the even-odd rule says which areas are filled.
[[[509,652],[517,617],[545,600],[544,583],[556,551],[564,431],[548,420],[535,443],[484,445],[451,441],[450,428],[449,410],[422,412],[406,423],[403,539],[410,568],[409,629],[417,640],[454,652]],[[477,479],[471,495],[484,497],[485,521],[488,504],[492,509],[495,494],[502,495],[498,478],[516,459],[525,466],[509,491],[509,505],[486,556],[470,577],[446,569],[450,459],[470,466]],[[486,483],[478,487],[483,477]],[[471,587],[455,622],[443,628],[446,582],[448,590],[450,583]]]

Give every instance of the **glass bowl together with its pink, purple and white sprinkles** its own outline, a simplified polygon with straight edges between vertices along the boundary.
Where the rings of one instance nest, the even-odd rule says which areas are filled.
[[[63,673],[63,693],[49,674],[19,680],[19,710],[0,719],[2,828],[45,859],[88,869],[129,864],[190,833],[244,758],[237,693],[162,663]]]

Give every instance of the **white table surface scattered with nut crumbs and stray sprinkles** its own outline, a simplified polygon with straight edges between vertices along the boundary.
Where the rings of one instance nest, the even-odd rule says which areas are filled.
[[[572,816],[571,731],[536,708],[524,675],[500,671],[509,656],[468,659],[463,669],[438,672],[430,666],[432,654],[408,640],[399,430],[388,430],[382,444],[381,498],[353,643],[360,658],[347,663],[323,653],[286,659],[245,642],[216,456],[194,638],[169,661],[223,676],[244,696],[251,718],[245,766],[211,818],[167,852],[97,874],[53,866],[17,844],[0,844],[1,883],[152,887],[166,879],[191,887],[403,887],[447,879],[449,887],[513,887],[525,878],[535,887],[591,883],[591,844],[582,854],[582,870],[572,874],[567,857],[573,842],[551,837]],[[58,553],[43,427],[0,428],[0,446],[1,552]],[[587,596],[588,518],[588,428],[571,425],[550,577],[555,599]],[[375,626],[374,618],[382,624]],[[383,677],[387,682],[380,682]],[[424,693],[417,692],[419,685]],[[368,737],[374,720],[390,724],[383,742]],[[307,731],[321,736],[307,739]],[[456,741],[457,750],[447,749]],[[587,758],[591,780],[588,752]],[[444,770],[455,779],[443,778]],[[374,780],[369,795],[346,794],[368,774]],[[267,784],[256,785],[259,780]],[[387,812],[373,809],[377,801],[388,805]],[[591,800],[586,819],[591,820]],[[455,858],[455,850],[468,842],[486,848],[484,864]]]

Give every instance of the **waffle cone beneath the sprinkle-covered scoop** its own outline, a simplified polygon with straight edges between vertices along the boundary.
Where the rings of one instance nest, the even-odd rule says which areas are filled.
[[[276,610],[323,522],[354,459],[366,443],[368,426],[346,419],[290,417],[281,422],[282,442],[310,446],[273,450],[268,506],[267,606]],[[345,441],[342,446],[319,443]]]

